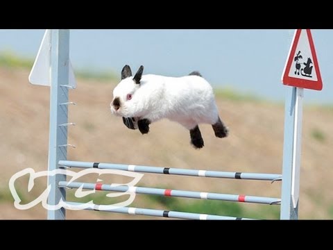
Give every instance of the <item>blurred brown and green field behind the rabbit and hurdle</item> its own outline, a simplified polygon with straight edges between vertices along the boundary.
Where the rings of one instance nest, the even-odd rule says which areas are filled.
[[[47,169],[49,139],[49,88],[28,83],[33,60],[10,52],[0,54],[0,219],[46,219],[41,204],[30,210],[17,210],[8,189],[12,174],[32,167]],[[151,126],[148,135],[123,126],[110,113],[112,90],[119,72],[77,70],[78,88],[70,90],[69,160],[98,161],[187,169],[282,173],[284,103],[272,102],[232,89],[215,89],[219,112],[230,128],[225,139],[214,137],[211,126],[202,125],[205,147],[193,149],[189,133],[179,124],[162,120]],[[300,219],[333,219],[333,124],[332,105],[304,107],[302,128],[302,167],[300,172]],[[36,181],[27,192],[27,178],[17,186],[28,202],[46,188]],[[112,180],[103,180],[112,183]],[[234,181],[186,176],[144,174],[139,186],[280,197],[281,183]],[[68,197],[74,198],[69,191]],[[103,192],[87,199],[108,203]],[[280,206],[198,201],[137,194],[132,206],[165,210],[212,213],[237,217],[278,219]],[[160,219],[67,210],[68,219]],[[164,218],[162,218],[164,219]]]

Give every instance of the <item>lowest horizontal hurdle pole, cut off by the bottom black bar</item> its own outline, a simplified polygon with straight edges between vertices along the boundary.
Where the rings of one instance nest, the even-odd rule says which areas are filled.
[[[71,202],[67,201],[65,208],[69,209],[71,206],[85,206],[85,203]],[[155,217],[167,217],[167,218],[177,218],[177,219],[229,219],[229,220],[241,220],[249,218],[241,217],[229,217],[229,216],[220,216],[220,215],[206,215],[198,213],[185,213],[185,212],[176,212],[176,211],[167,211],[167,210],[156,210],[156,209],[147,209],[147,208],[128,208],[128,207],[114,207],[110,209],[99,209],[100,205],[94,205],[93,207],[83,208],[84,210],[96,210],[101,212],[111,212],[111,213],[122,213],[128,215],[148,215]],[[103,205],[102,205],[103,206]],[[105,206],[105,205],[104,205]]]

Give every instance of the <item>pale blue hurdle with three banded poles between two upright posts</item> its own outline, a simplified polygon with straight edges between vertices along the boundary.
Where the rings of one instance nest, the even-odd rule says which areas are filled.
[[[44,47],[51,47],[51,52],[43,54]],[[47,57],[49,70],[37,69],[38,60]],[[44,58],[45,59],[45,58]],[[300,134],[302,89],[289,88],[285,103],[284,120],[284,151],[282,174],[262,174],[244,172],[219,172],[210,170],[181,169],[174,167],[149,167],[138,165],[121,165],[112,163],[88,163],[67,160],[67,147],[74,145],[67,143],[67,126],[74,125],[68,122],[68,106],[75,104],[69,101],[68,91],[76,88],[75,78],[71,72],[69,61],[69,30],[46,30],[40,51],[38,52],[29,81],[38,85],[49,85],[50,92],[50,129],[49,129],[49,165],[48,169],[63,167],[120,169],[130,172],[144,172],[152,174],[171,174],[180,176],[196,176],[208,178],[231,178],[249,181],[282,181],[282,197],[255,197],[242,194],[219,194],[210,192],[194,192],[187,190],[169,190],[160,188],[146,188],[119,185],[112,186],[99,183],[67,182],[66,176],[49,176],[48,185],[51,185],[49,203],[55,205],[66,200],[66,188],[79,188],[81,185],[87,190],[107,190],[112,192],[134,192],[137,194],[153,194],[167,197],[187,197],[194,199],[216,199],[220,201],[235,201],[245,203],[264,203],[280,205],[280,219],[298,219],[298,190],[300,168]],[[51,74],[49,75],[49,72]],[[46,74],[46,75],[45,75]],[[38,76],[38,77],[37,77]],[[46,79],[41,83],[40,78]],[[37,80],[35,80],[37,79]],[[46,83],[45,83],[46,82]],[[67,202],[67,205],[58,210],[48,210],[48,219],[65,219],[65,209],[78,206],[82,203]],[[99,205],[85,208],[87,210],[101,210]],[[129,215],[148,215],[154,217],[169,217],[180,219],[250,219],[228,217],[220,215],[206,215],[198,213],[186,213],[178,211],[155,210],[148,208],[112,208],[111,213],[123,213]]]

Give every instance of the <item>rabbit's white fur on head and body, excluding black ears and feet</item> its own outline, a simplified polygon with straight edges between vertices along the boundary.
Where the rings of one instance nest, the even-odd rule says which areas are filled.
[[[128,94],[132,94],[132,99],[126,100]],[[151,122],[167,118],[189,130],[198,124],[215,124],[219,120],[212,86],[200,76],[146,74],[139,84],[130,76],[114,88],[113,97],[119,98],[121,105],[116,110],[111,102],[111,112],[119,117]]]

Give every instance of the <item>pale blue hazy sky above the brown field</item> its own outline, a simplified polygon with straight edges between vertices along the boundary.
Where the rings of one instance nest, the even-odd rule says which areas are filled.
[[[74,69],[184,76],[198,70],[214,86],[283,101],[281,77],[292,29],[227,30],[71,30]],[[323,90],[305,90],[305,103],[333,104],[333,30],[311,30]],[[44,30],[0,30],[0,52],[34,58]],[[78,85],[78,88],[80,86]]]

